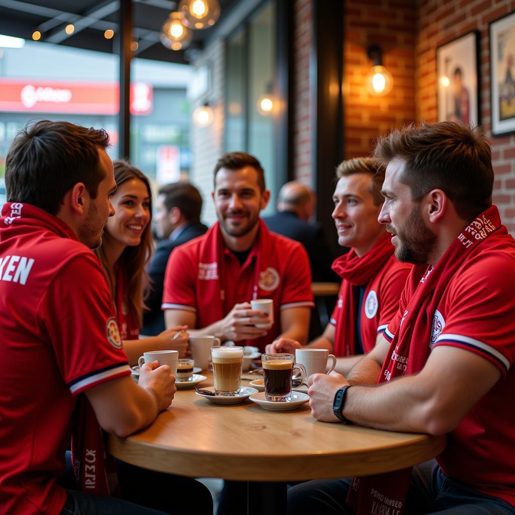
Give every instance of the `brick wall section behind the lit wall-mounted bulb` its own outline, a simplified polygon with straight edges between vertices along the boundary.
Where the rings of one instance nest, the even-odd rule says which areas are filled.
[[[368,156],[378,134],[415,121],[417,9],[413,0],[347,0],[344,32],[344,154]],[[372,66],[371,44],[383,49],[383,65],[393,90],[370,94],[366,77]],[[336,163],[335,163],[336,164]]]

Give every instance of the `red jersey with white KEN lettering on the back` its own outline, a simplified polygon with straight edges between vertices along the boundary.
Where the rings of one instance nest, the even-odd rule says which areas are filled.
[[[57,514],[76,396],[130,368],[93,252],[29,204],[5,204],[2,214],[0,506]]]

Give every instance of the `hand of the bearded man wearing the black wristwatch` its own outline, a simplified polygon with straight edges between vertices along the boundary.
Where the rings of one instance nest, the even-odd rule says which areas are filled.
[[[307,394],[310,396],[311,415],[321,422],[339,422],[333,413],[336,392],[349,382],[337,372],[313,374],[307,378]]]

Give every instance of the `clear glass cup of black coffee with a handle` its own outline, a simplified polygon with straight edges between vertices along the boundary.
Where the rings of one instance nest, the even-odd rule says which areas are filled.
[[[303,365],[294,364],[294,355],[286,353],[263,354],[263,377],[267,401],[291,401],[291,377],[294,369],[300,370],[302,381],[306,377]]]

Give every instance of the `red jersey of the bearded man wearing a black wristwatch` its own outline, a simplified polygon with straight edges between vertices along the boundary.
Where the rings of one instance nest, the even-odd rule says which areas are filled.
[[[491,235],[470,252],[449,282],[433,315],[427,345],[459,347],[484,357],[501,379],[448,436],[438,457],[442,471],[487,495],[515,506],[515,243]],[[392,340],[408,299],[385,336]]]

